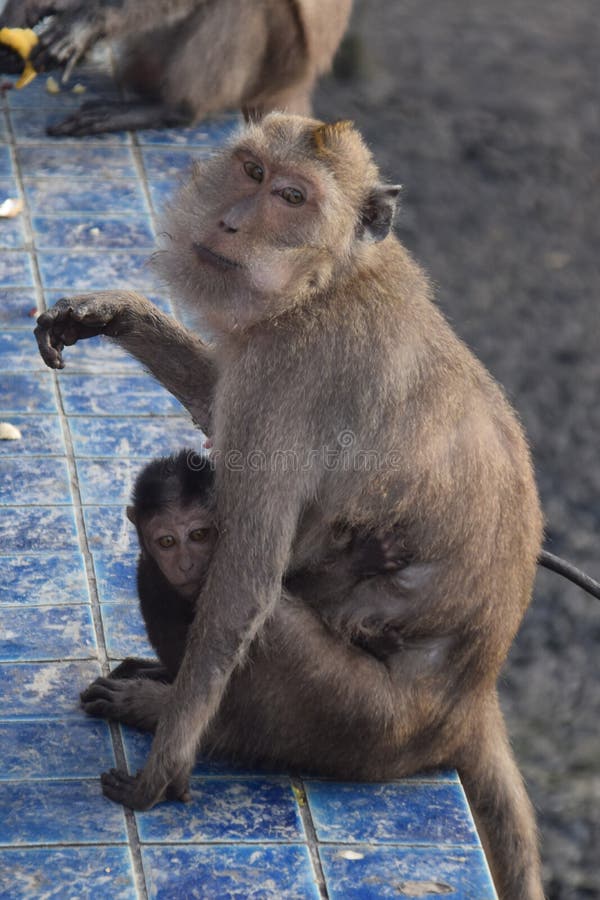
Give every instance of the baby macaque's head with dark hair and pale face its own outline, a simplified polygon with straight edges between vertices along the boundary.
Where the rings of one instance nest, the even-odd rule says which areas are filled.
[[[182,450],[148,463],[127,507],[142,553],[184,596],[199,592],[215,545],[213,486],[208,458]]]

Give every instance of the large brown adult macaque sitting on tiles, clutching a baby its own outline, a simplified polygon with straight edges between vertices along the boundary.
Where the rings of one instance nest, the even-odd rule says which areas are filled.
[[[501,897],[540,900],[534,817],[496,694],[535,576],[537,492],[502,391],[390,234],[397,193],[350,123],[270,114],[196,165],[157,257],[213,345],[133,293],[61,300],[38,319],[49,366],[108,335],[218,454],[219,536],[181,667],[160,694],[133,684],[152,750],[103,789],[135,809],[185,797],[219,729],[225,744],[240,729],[265,762],[338,777],[456,766]],[[410,563],[325,621],[282,583],[318,570],[339,522],[399,529]],[[345,640],[356,617],[393,624],[398,651],[382,660]],[[267,628],[269,689],[253,692],[250,666],[236,698],[232,675]]]

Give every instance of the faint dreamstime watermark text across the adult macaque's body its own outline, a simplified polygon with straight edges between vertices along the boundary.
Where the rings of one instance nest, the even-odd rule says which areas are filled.
[[[326,472],[380,472],[401,467],[397,451],[360,447],[355,432],[344,428],[331,444],[310,449],[191,451],[187,464],[193,471],[225,466],[232,472],[307,472],[321,468]]]

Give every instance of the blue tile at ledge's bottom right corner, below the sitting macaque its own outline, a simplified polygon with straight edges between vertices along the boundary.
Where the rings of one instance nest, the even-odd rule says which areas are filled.
[[[481,850],[354,844],[321,846],[319,855],[331,900],[496,900]]]

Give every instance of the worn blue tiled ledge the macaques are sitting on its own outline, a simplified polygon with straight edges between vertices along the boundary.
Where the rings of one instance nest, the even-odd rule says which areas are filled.
[[[103,61],[87,97],[115,92]],[[156,213],[185,167],[235,126],[52,140],[80,102],[37,78],[0,101],[0,898],[493,900],[454,773],[390,784],[270,777],[199,762],[193,802],[133,814],[99,773],[143,764],[149,738],[85,719],[78,694],[127,654],[151,655],[124,506],[153,455],[201,435],[118,349],[94,339],[42,365],[36,310],[129,285],[169,310],[147,265]],[[98,374],[102,372],[102,379]]]

